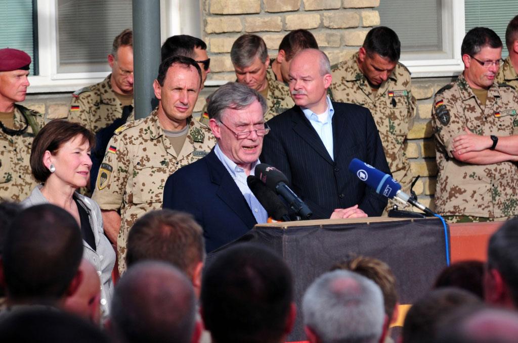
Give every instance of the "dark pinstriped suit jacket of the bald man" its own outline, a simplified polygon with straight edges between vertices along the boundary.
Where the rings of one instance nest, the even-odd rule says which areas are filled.
[[[334,160],[298,106],[268,121],[261,162],[282,171],[292,190],[313,211],[311,219],[329,218],[335,208],[359,205],[369,216],[380,216],[387,198],[367,187],[349,171],[358,158],[389,174],[378,129],[370,111],[333,102]]]

